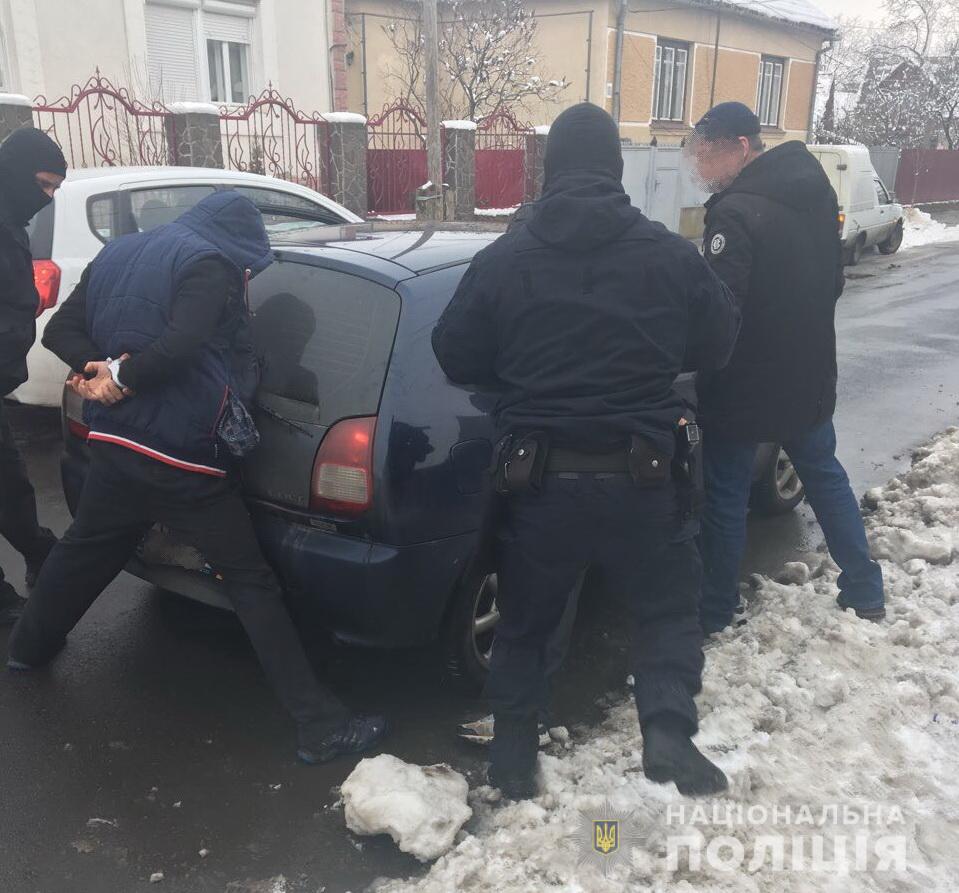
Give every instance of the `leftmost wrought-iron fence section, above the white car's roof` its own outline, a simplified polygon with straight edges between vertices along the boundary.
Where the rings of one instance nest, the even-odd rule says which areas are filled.
[[[38,96],[34,123],[56,141],[70,167],[175,163],[172,114],[159,102],[146,105],[99,70],[69,96]]]

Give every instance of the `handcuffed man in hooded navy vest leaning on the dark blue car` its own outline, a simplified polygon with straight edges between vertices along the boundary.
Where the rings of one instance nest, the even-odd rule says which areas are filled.
[[[317,681],[231,474],[229,445],[254,439],[245,282],[271,261],[253,203],[218,192],[173,223],[107,245],[50,321],[43,343],[75,370],[71,385],[86,398],[90,469],[10,637],[8,665],[52,660],[160,522],[222,577],[297,722],[298,756],[313,763],[369,747],[385,723],[351,716]]]

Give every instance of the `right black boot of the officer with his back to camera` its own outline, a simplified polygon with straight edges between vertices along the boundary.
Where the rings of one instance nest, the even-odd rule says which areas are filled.
[[[643,772],[650,781],[676,782],[687,797],[718,794],[729,787],[722,770],[697,749],[686,720],[659,714],[643,726]]]

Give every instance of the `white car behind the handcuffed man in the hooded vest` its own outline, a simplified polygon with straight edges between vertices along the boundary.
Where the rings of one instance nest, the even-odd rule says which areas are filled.
[[[362,223],[352,211],[295,183],[259,174],[191,167],[105,167],[72,170],[56,200],[28,231],[40,293],[37,341],[27,354],[29,379],[11,395],[21,403],[59,406],[69,370],[40,343],[57,303],[111,239],[175,220],[218,189],[236,189],[263,214],[270,234],[317,223]]]

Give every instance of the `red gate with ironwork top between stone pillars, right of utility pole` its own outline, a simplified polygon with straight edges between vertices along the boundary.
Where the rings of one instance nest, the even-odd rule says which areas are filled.
[[[476,207],[512,208],[527,191],[526,148],[532,129],[499,108],[476,125]]]

